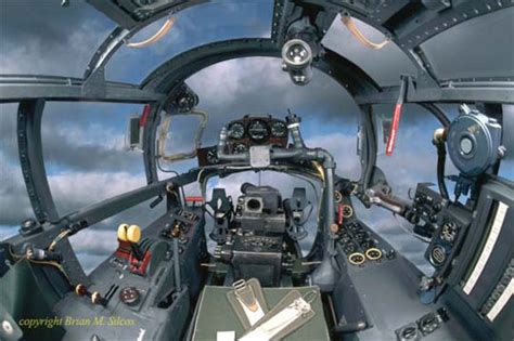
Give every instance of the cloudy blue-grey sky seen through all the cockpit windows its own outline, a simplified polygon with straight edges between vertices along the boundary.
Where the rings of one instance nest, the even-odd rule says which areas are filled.
[[[83,1],[72,1],[63,9],[57,0],[5,0],[0,4],[0,74],[37,74],[82,77],[91,54],[115,24]],[[106,67],[108,80],[139,83],[159,64],[193,47],[243,37],[268,37],[271,1],[214,1],[176,15],[176,24],[158,43],[141,50],[121,48]],[[163,21],[154,23],[133,41],[152,36]],[[378,32],[361,25],[372,39]],[[411,62],[395,45],[365,50],[336,19],[323,44],[360,65],[382,86],[396,84],[400,73],[413,74]],[[213,65],[187,81],[200,95],[198,107],[209,114],[203,145],[216,143],[219,129],[247,114],[285,117],[287,109],[303,117],[301,130],[308,146],[324,147],[337,161],[337,174],[357,180],[356,155],[358,107],[351,97],[326,75],[314,71],[306,87],[295,87],[281,70],[277,58],[252,57]],[[16,233],[20,222],[33,217],[23,183],[16,146],[16,104],[0,104],[0,240]],[[457,106],[447,107],[452,115]],[[377,106],[380,117],[389,117],[391,106]],[[124,149],[125,129],[141,105],[47,103],[42,121],[43,154],[50,187],[61,214],[95,204],[114,195],[145,185],[142,155]],[[187,148],[192,122],[172,126],[174,148]],[[407,198],[417,182],[436,182],[436,153],[432,134],[438,122],[424,109],[407,105],[393,157],[384,156],[381,145],[378,167],[395,192]],[[450,163],[450,162],[449,162]],[[512,165],[512,163],[510,163]],[[165,165],[185,171],[195,161]],[[448,172],[454,168],[448,165]],[[512,167],[502,167],[512,179]],[[159,174],[162,179],[166,173]],[[249,175],[214,181],[239,195],[240,183]],[[280,180],[279,180],[280,179]],[[261,181],[278,186],[283,196],[305,183],[266,174]],[[187,187],[198,194],[197,185]],[[72,237],[80,262],[90,272],[116,248],[116,227],[121,222],[142,227],[164,213],[164,205],[149,209],[143,202]],[[399,222],[378,209],[357,213],[400,252],[427,271],[423,261],[425,245],[403,233]],[[207,227],[208,229],[208,227]]]

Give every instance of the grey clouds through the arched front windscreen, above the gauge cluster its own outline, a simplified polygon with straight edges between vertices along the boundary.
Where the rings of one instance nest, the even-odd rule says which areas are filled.
[[[205,145],[215,144],[221,126],[244,115],[284,118],[287,109],[300,115],[304,130],[356,127],[358,108],[346,91],[329,76],[314,70],[311,83],[294,86],[279,58],[248,57],[215,64],[188,79],[198,93],[198,107],[210,121]],[[356,131],[356,129],[352,129]],[[320,131],[318,131],[320,133]]]

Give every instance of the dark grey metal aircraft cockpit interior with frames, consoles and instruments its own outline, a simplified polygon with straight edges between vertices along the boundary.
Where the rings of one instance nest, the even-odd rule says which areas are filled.
[[[0,103],[17,105],[17,157],[34,211],[0,242],[0,340],[513,340],[514,58],[510,75],[447,79],[429,64],[437,57],[426,42],[494,15],[510,17],[512,28],[514,3],[265,1],[270,37],[190,48],[141,83],[107,80],[118,49],[159,44],[174,32],[175,16],[179,23],[182,11],[204,2],[226,5],[87,0],[80,5],[116,28],[83,78],[0,75]],[[74,5],[63,1],[63,10]],[[155,36],[134,42],[157,21],[164,24]],[[395,44],[414,73],[380,86],[358,61],[323,44],[334,21],[365,49]],[[384,42],[370,41],[361,24]],[[502,47],[512,57],[513,44]],[[357,127],[317,122],[349,132],[351,143],[312,139],[316,115],[295,103],[254,112],[268,101],[259,93],[257,104],[244,103],[248,110],[230,119],[204,108],[190,77],[252,56],[273,57],[284,87],[308,92],[321,74],[334,79],[358,110]],[[231,90],[222,78],[208,80],[210,90],[220,88],[214,97]],[[56,102],[139,105],[124,127],[124,153],[142,160],[144,185],[70,212],[57,209],[48,179],[61,173],[46,169],[41,139],[42,114]],[[377,114],[380,105],[387,116]],[[414,121],[429,139],[408,135],[434,158],[419,152],[383,162],[403,150],[407,106],[435,122],[432,129]],[[179,127],[179,117],[194,124]],[[192,149],[170,152],[181,139]],[[351,149],[359,175],[347,171],[343,149]],[[420,179],[408,195],[396,191],[408,163],[435,174],[434,182]],[[72,187],[90,195],[80,180]],[[137,214],[113,220],[142,204],[149,223]],[[383,217],[408,226],[402,247],[384,233]],[[115,249],[87,273],[74,240],[93,231],[88,242],[100,248],[104,234],[91,229],[100,222]]]

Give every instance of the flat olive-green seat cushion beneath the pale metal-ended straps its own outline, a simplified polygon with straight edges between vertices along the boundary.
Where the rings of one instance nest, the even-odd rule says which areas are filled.
[[[213,286],[206,286],[204,288],[198,300],[193,340],[216,340],[218,331],[233,330],[235,331],[236,339],[244,335],[243,325],[227,299],[227,292],[231,289],[231,287]],[[298,290],[303,294],[312,290],[319,291],[318,287],[262,288],[268,307],[271,310],[292,289]],[[330,340],[321,297],[312,302],[311,305],[312,310],[316,312],[314,317],[283,340]]]

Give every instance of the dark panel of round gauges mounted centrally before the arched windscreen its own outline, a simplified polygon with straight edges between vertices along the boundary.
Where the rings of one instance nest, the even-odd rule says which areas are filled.
[[[245,116],[228,124],[229,153],[241,154],[250,146],[264,144],[286,147],[287,133],[287,126],[282,120],[271,116]]]

